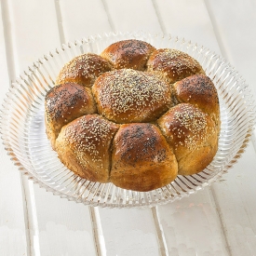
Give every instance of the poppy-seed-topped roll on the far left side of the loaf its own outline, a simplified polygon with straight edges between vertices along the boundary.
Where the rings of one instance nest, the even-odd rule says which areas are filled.
[[[64,125],[81,115],[97,112],[90,89],[75,83],[65,83],[47,91],[45,108],[47,137],[53,149]]]

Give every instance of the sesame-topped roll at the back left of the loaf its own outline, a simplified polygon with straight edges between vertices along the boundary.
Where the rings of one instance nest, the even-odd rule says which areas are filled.
[[[66,63],[56,79],[55,85],[74,82],[84,87],[92,87],[95,79],[111,70],[111,64],[101,56],[86,53]]]

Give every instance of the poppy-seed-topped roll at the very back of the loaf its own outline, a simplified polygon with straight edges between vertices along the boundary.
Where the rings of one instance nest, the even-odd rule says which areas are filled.
[[[105,48],[101,56],[110,61],[114,69],[135,69],[144,71],[149,56],[155,50],[141,40],[129,39],[116,42]]]

